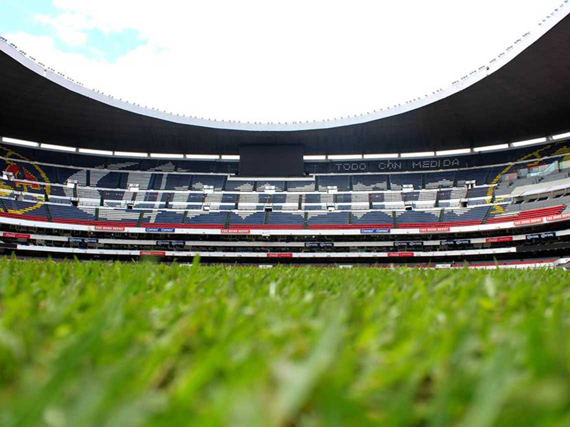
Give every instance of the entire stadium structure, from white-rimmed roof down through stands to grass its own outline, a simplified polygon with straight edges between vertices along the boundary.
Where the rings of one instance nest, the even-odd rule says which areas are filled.
[[[569,9],[564,2],[447,90],[320,123],[140,108],[0,41],[1,250],[255,265],[565,265]],[[278,164],[275,149],[292,155]],[[246,152],[283,174],[244,173]]]

